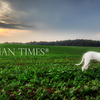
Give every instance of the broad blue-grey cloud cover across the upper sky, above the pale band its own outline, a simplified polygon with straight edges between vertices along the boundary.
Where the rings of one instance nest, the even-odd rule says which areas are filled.
[[[30,29],[99,30],[100,1],[87,0],[1,0],[2,21],[14,28]],[[17,24],[15,27],[15,24]],[[18,25],[21,24],[21,25]],[[10,25],[10,26],[11,26]]]

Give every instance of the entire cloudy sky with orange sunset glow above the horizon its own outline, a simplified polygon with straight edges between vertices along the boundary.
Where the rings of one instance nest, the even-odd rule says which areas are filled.
[[[100,0],[0,0],[0,43],[100,40]]]

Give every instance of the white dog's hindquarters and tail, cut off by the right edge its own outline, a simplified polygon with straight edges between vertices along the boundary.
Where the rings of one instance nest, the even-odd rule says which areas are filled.
[[[82,71],[84,71],[84,69],[88,69],[91,60],[96,60],[100,62],[100,53],[89,51],[83,55],[82,61],[79,64],[75,64],[75,65],[81,65],[82,62],[84,61],[84,65],[82,67]]]

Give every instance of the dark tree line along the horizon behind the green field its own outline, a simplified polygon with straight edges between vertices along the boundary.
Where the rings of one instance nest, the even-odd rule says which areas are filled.
[[[9,42],[5,42],[9,43]],[[16,43],[16,42],[12,42]],[[18,43],[17,44],[22,44]],[[90,47],[100,47],[100,41],[97,40],[84,40],[84,39],[76,39],[76,40],[62,40],[62,41],[53,41],[53,42],[47,42],[47,41],[31,41],[24,44],[31,44],[31,45],[52,45],[52,46],[90,46]]]

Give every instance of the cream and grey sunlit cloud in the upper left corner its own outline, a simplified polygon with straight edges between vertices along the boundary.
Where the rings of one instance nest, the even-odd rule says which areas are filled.
[[[31,29],[34,26],[20,20],[23,19],[24,12],[17,11],[11,8],[11,2],[0,0],[0,28],[9,29]]]

